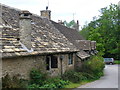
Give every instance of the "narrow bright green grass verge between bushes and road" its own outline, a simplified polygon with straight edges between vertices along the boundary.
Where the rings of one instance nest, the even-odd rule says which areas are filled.
[[[90,83],[92,81],[95,81],[95,80],[84,80],[84,81],[81,81],[79,83],[70,82],[70,84],[66,85],[65,88],[77,88],[77,87],[80,87],[81,85],[85,85],[85,84]]]

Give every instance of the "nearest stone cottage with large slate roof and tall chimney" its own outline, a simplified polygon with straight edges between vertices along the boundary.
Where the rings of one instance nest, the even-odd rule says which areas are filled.
[[[49,19],[6,5],[0,7],[2,77],[9,74],[29,79],[32,68],[57,76],[75,68],[79,50]]]

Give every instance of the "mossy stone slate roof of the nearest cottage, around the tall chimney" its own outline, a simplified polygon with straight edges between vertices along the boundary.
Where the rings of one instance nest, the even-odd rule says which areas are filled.
[[[0,6],[1,7],[1,6]],[[28,52],[19,42],[19,13],[21,10],[2,5],[2,57],[45,53],[76,52],[76,47],[46,18],[32,15],[32,48]]]

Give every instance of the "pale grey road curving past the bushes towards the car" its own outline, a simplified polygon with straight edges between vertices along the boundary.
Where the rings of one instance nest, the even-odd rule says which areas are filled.
[[[118,65],[106,65],[104,74],[99,80],[78,88],[118,88]]]

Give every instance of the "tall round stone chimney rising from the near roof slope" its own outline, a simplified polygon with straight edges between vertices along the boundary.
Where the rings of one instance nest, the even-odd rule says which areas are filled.
[[[20,42],[27,49],[31,49],[31,13],[29,11],[22,11],[20,14]]]

